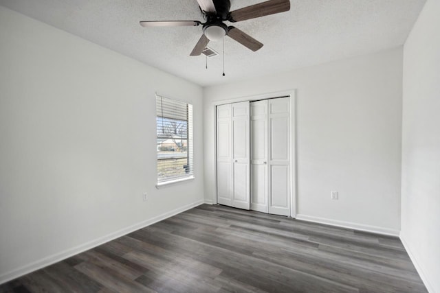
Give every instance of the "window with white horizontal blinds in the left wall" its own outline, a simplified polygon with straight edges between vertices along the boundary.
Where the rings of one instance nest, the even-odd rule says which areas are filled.
[[[193,178],[192,105],[156,95],[157,184]]]

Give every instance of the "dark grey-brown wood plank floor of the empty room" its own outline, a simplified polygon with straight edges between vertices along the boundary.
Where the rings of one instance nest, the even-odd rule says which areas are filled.
[[[427,292],[400,240],[203,204],[0,292]]]

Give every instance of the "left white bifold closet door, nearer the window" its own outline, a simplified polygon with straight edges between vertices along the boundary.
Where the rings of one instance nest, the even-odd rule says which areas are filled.
[[[217,106],[217,198],[250,209],[250,106]]]

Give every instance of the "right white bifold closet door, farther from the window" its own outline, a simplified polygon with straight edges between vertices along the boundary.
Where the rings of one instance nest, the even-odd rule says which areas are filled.
[[[252,102],[251,209],[290,215],[290,102]]]

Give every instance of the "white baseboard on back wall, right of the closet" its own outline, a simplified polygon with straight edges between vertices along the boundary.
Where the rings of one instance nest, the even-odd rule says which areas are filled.
[[[300,213],[298,213],[296,215],[296,219],[304,220],[307,222],[327,224],[327,225],[338,226],[338,227],[342,227],[342,228],[350,228],[350,229],[354,229],[354,230],[377,233],[377,234],[382,234],[382,235],[391,235],[391,236],[396,236],[396,237],[399,237],[399,233],[400,233],[400,231],[395,230],[395,229],[391,229],[391,228],[370,226],[370,225],[358,224],[358,223],[353,223],[353,222],[344,222],[344,221],[339,221],[339,220],[332,220],[332,219],[327,219],[327,218],[315,217],[313,215],[302,215]]]

